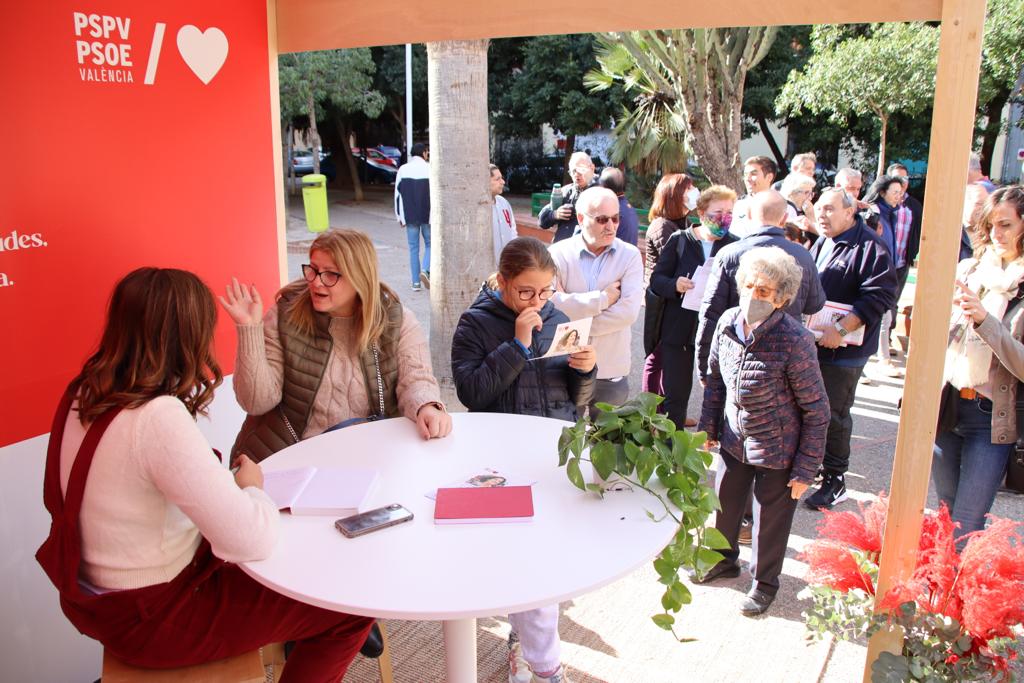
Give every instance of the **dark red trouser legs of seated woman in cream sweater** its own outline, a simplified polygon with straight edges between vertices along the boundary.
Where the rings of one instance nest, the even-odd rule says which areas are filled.
[[[298,641],[282,683],[337,683],[374,624],[314,607],[263,587],[233,564],[103,644],[129,664],[175,668]]]

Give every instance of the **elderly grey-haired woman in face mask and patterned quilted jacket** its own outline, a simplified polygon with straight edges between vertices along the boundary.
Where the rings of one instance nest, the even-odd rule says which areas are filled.
[[[709,357],[699,429],[710,446],[721,446],[715,526],[730,547],[694,581],[739,575],[736,542],[753,484],[754,585],[740,604],[746,615],[761,614],[775,599],[797,502],[824,457],[828,398],[814,336],[783,310],[801,276],[796,259],[778,247],[743,254],[739,306],[719,319]]]

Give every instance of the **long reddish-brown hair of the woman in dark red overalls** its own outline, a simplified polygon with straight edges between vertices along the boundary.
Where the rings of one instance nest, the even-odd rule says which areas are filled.
[[[175,396],[195,417],[223,380],[213,353],[217,307],[197,275],[138,268],[114,288],[99,348],[72,382],[82,424],[115,407]]]

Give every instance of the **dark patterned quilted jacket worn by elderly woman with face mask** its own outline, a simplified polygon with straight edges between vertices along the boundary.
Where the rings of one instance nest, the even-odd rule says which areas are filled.
[[[811,484],[828,430],[814,336],[775,310],[744,345],[735,330],[740,315],[730,308],[715,331],[699,429],[736,460],[788,469]]]

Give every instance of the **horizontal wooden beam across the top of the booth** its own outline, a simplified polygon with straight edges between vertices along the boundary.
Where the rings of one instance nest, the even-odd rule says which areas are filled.
[[[934,22],[942,0],[278,0],[282,52],[691,27]]]

